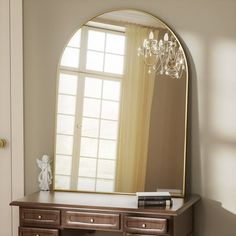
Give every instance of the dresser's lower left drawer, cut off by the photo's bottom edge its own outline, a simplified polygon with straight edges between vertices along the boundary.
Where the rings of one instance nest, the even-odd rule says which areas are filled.
[[[19,236],[59,236],[57,229],[19,228]]]

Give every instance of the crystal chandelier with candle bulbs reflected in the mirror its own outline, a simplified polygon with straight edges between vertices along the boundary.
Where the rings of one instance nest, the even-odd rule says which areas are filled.
[[[185,70],[184,53],[175,38],[166,33],[164,39],[154,39],[153,31],[144,39],[143,46],[138,48],[138,56],[142,56],[148,66],[148,73],[157,72],[175,79],[181,78]]]

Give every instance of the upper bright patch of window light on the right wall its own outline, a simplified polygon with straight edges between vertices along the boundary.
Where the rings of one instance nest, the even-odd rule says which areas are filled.
[[[217,40],[211,50],[211,129],[236,143],[236,41]],[[235,147],[236,148],[236,147]]]

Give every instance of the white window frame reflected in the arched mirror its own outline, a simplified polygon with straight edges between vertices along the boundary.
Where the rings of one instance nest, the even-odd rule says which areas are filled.
[[[78,124],[82,124],[82,110],[83,110],[83,99],[84,99],[84,82],[85,82],[85,77],[92,77],[92,78],[98,78],[98,79],[101,79],[102,81],[104,80],[114,80],[114,81],[119,81],[120,82],[120,100],[118,101],[119,102],[119,118],[117,120],[118,122],[118,133],[117,133],[117,138],[115,139],[116,141],[116,145],[117,145],[117,150],[118,150],[118,137],[119,137],[119,123],[120,123],[120,106],[121,106],[121,99],[122,99],[122,78],[123,78],[123,74],[114,74],[114,73],[108,73],[108,72],[100,72],[100,71],[93,71],[93,70],[86,70],[86,55],[87,55],[87,43],[88,43],[88,31],[89,30],[95,30],[95,31],[100,31],[100,32],[104,32],[104,33],[112,33],[112,34],[119,34],[119,35],[124,35],[124,32],[117,32],[117,31],[113,31],[111,29],[100,29],[100,28],[97,28],[97,27],[92,27],[92,26],[83,26],[82,30],[81,30],[81,39],[80,39],[80,46],[76,47],[76,48],[79,48],[80,49],[80,63],[79,63],[79,66],[78,68],[75,68],[75,67],[68,67],[68,66],[62,66],[60,65],[59,67],[59,75],[61,73],[63,74],[73,74],[73,75],[77,75],[78,76],[78,83],[77,83],[77,97],[76,98],[76,113],[75,113],[75,127],[74,127],[74,134],[73,134],[73,154],[72,154],[72,166],[71,166],[71,175],[70,175],[70,178],[71,178],[71,181],[70,181],[70,189],[75,189],[77,190],[77,185],[78,185],[78,178],[81,177],[79,176],[79,173],[78,173],[78,170],[79,170],[79,160],[80,160],[80,140],[81,140],[81,129],[80,129],[80,132],[77,132],[76,130],[77,129],[77,125]],[[71,46],[69,46],[71,47]],[[96,50],[94,50],[96,51]],[[100,51],[99,51],[100,52]],[[104,48],[104,51],[103,51],[103,54],[104,54],[104,57],[103,57],[103,60],[105,60],[105,55],[106,55],[106,51],[105,51],[105,48]],[[119,54],[115,54],[115,53],[109,53],[111,55],[119,55]],[[125,55],[122,55],[124,56],[124,63],[125,63]],[[81,60],[82,59],[82,60]],[[105,67],[105,63],[103,61],[103,70],[104,70],[104,67]],[[58,94],[57,94],[58,96]],[[101,101],[101,104],[102,104],[102,101],[103,99],[100,98],[99,99]],[[78,109],[78,110],[77,110]],[[58,115],[58,113],[57,113]],[[92,118],[92,117],[91,117]],[[101,118],[101,116],[99,118],[99,126],[101,125],[101,120],[103,120]],[[79,121],[80,120],[80,121]],[[99,127],[99,130],[100,130],[100,127]],[[91,137],[89,137],[91,138]],[[102,138],[95,138],[98,140],[102,140]],[[109,139],[110,140],[110,139]],[[79,142],[78,142],[79,141]],[[96,163],[96,169],[98,168],[98,160],[105,160],[106,158],[99,158],[98,157],[98,151],[99,151],[99,144],[98,144],[98,150],[97,150],[97,156],[96,156],[96,160],[97,160],[97,163]],[[86,157],[84,157],[86,158]],[[91,157],[87,157],[87,158],[91,158]],[[107,160],[112,160],[112,159],[107,159]],[[114,160],[114,164],[115,164],[115,172],[116,172],[116,169],[117,169],[117,151],[116,151],[116,158]],[[113,186],[115,188],[115,174],[114,173],[114,179],[112,179],[113,181]],[[85,177],[85,178],[90,178],[90,177]],[[95,189],[93,191],[96,191],[96,183],[97,183],[97,180],[98,179],[102,179],[102,178],[98,178],[97,176],[97,170],[96,170],[96,176],[95,177],[91,177],[91,179],[95,179]],[[111,179],[110,179],[111,180]]]

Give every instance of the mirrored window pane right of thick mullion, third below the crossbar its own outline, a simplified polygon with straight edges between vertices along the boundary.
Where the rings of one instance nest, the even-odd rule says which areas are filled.
[[[97,138],[99,132],[99,120],[83,118],[82,136]]]

